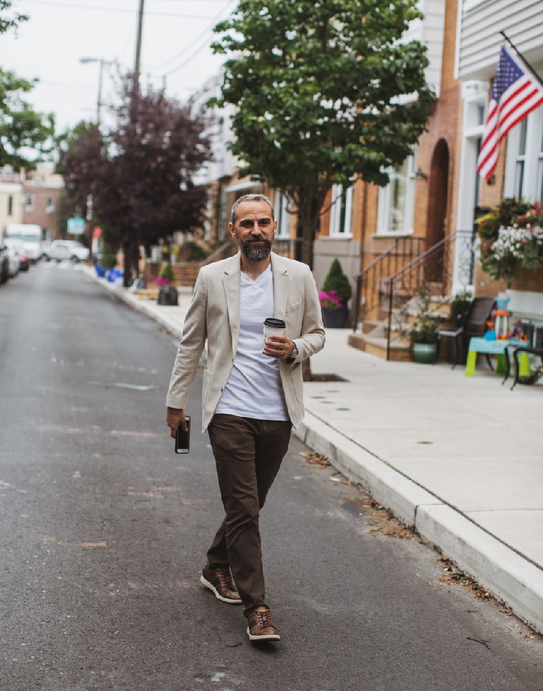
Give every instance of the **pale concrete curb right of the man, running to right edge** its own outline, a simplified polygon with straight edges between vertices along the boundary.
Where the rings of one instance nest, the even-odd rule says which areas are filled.
[[[306,410],[294,430],[304,444],[358,482],[409,528],[543,633],[543,571],[465,515]]]

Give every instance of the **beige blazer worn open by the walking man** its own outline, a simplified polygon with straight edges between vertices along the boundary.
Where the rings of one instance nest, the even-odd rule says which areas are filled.
[[[295,360],[288,363],[278,360],[288,415],[296,427],[304,417],[300,363],[321,350],[324,345],[324,328],[317,288],[309,267],[273,252],[271,265],[275,305],[273,316],[285,321],[286,336],[295,341],[298,349]],[[208,363],[203,371],[202,387],[204,431],[217,408],[236,356],[240,273],[240,254],[200,270],[169,383],[166,405],[185,409],[207,339]]]

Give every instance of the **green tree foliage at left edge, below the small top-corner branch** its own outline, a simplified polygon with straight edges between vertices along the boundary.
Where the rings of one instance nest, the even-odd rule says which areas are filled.
[[[53,151],[55,119],[37,113],[25,95],[34,83],[0,69],[0,165],[35,168]]]

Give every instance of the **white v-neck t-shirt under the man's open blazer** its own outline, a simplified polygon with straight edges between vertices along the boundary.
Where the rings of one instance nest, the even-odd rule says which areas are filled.
[[[240,275],[239,340],[230,376],[215,413],[288,420],[277,360],[264,355],[264,319],[274,315],[271,265],[253,281]]]

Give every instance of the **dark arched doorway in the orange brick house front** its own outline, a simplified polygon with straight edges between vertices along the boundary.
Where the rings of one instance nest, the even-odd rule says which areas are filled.
[[[426,247],[434,247],[445,238],[445,223],[449,196],[449,146],[444,139],[437,142],[432,155],[428,188],[428,216]],[[441,253],[440,253],[441,254]],[[443,280],[443,260],[432,261],[427,269],[427,281]]]

